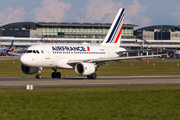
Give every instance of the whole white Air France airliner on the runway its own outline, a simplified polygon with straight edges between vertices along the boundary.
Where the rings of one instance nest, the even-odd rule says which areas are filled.
[[[41,78],[43,68],[52,68],[54,70],[52,78],[61,78],[57,69],[75,69],[78,75],[96,79],[95,71],[107,61],[158,56],[120,57],[126,51],[119,47],[124,14],[125,9],[119,9],[107,36],[99,45],[39,44],[30,46],[20,56],[22,72],[25,74],[38,73],[36,78]]]

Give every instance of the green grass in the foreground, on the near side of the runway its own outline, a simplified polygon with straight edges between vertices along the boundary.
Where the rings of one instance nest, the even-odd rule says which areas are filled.
[[[180,119],[180,85],[0,89],[0,119]]]

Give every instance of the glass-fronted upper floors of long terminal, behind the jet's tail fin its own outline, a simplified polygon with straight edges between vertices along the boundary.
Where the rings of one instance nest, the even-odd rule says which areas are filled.
[[[25,38],[104,39],[110,26],[110,23],[19,22],[2,26],[0,35]],[[136,25],[124,24],[122,38],[132,39],[134,27]]]

